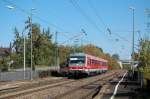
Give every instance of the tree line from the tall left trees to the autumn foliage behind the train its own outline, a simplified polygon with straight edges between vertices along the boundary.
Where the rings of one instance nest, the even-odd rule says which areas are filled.
[[[31,28],[32,27],[32,28]],[[32,31],[31,31],[32,30]],[[24,33],[28,32],[28,36],[24,38]],[[59,63],[67,65],[67,58],[70,53],[84,52],[93,56],[104,58],[108,60],[109,66],[113,69],[118,68],[117,61],[109,54],[105,54],[103,50],[97,46],[88,44],[84,46],[56,46],[52,42],[52,33],[50,29],[41,29],[39,24],[31,24],[30,18],[25,22],[25,29],[21,32],[14,29],[15,38],[12,44],[12,53],[9,55],[9,61],[13,60],[11,68],[22,68],[24,60],[24,39],[25,39],[25,55],[26,66],[31,64],[31,36],[33,48],[33,68],[35,66],[51,66],[56,63],[56,50],[58,47]],[[31,35],[32,34],[32,35]],[[5,64],[4,61],[1,64]]]

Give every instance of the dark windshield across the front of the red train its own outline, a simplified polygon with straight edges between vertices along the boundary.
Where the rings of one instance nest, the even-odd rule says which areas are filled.
[[[84,66],[85,56],[71,56],[69,59],[69,66]]]

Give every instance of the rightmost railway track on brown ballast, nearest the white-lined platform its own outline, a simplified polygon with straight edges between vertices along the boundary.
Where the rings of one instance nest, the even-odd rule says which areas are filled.
[[[92,82],[89,82],[85,85],[76,87],[75,89],[58,95],[56,97],[52,97],[54,99],[92,99],[101,89],[105,83],[114,77],[118,77],[119,73],[113,73],[107,75],[106,77],[99,78]]]

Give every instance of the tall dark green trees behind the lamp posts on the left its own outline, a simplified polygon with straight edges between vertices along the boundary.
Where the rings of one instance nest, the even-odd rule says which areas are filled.
[[[30,23],[28,19],[25,23],[25,31],[28,31],[28,36],[25,38],[26,46],[26,65],[30,66],[31,64],[31,33],[32,33],[32,54],[33,54],[33,68],[36,65],[53,65],[55,56],[55,44],[52,43],[52,34],[50,29],[42,29],[39,24]],[[32,32],[31,32],[32,26]],[[25,32],[23,31],[23,32]],[[14,61],[13,67],[19,68],[23,65],[24,57],[24,36],[23,33],[19,33],[17,28],[14,29],[15,39],[13,41],[13,52],[11,59]]]

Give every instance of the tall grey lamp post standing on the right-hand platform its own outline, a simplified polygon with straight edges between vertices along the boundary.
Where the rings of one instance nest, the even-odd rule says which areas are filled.
[[[134,74],[134,11],[135,8],[134,7],[129,7],[129,9],[132,11],[132,73]]]

